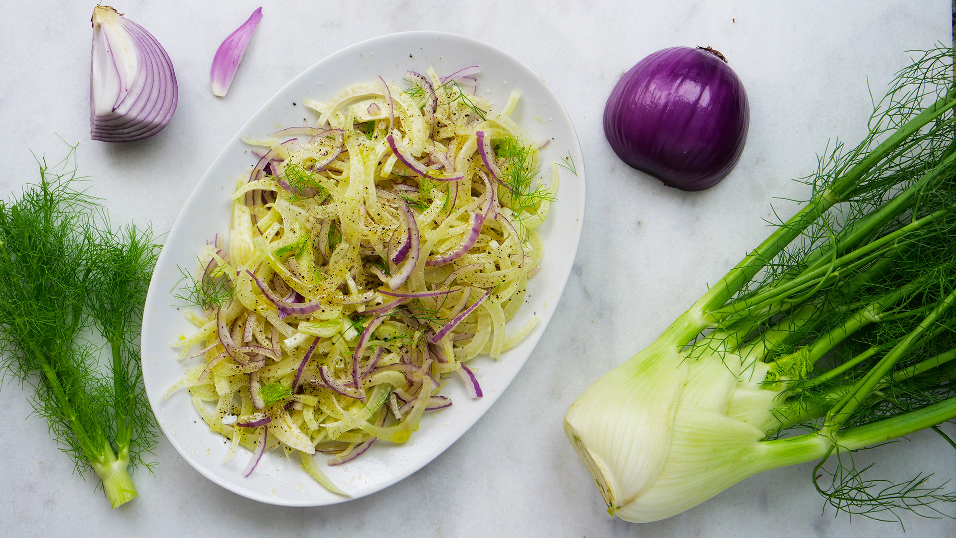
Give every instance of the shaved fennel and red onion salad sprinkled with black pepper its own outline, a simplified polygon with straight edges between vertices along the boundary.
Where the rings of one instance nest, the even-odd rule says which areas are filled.
[[[252,451],[244,476],[282,447],[344,494],[316,455],[338,465],[407,441],[452,405],[445,383],[481,398],[467,361],[537,324],[505,327],[540,269],[558,167],[576,171],[543,173],[548,140],[511,119],[521,95],[496,110],[478,73],[378,77],[303,99],[315,125],[247,140],[260,159],[232,195],[228,239],[184,271],[196,330],[174,343],[187,373],[166,393],[189,392],[230,458]]]

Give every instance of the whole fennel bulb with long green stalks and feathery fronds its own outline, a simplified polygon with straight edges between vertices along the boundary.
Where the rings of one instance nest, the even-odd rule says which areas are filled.
[[[820,460],[837,511],[901,521],[956,494],[870,478],[853,451],[956,418],[953,51],[923,54],[812,197],[650,347],[577,398],[565,430],[611,513],[654,521],[757,472]],[[942,483],[942,484],[941,484]]]

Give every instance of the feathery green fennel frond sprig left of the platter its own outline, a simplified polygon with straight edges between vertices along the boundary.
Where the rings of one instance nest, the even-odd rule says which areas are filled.
[[[116,507],[137,496],[128,469],[150,465],[142,455],[156,439],[139,340],[158,247],[148,230],[111,227],[76,179],[75,166],[56,174],[43,161],[39,183],[0,202],[0,355],[33,386],[36,413],[76,470],[92,467]]]

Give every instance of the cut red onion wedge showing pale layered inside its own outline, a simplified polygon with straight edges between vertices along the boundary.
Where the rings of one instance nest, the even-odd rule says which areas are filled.
[[[159,133],[179,100],[172,62],[140,25],[109,6],[93,11],[90,135],[128,142]]]

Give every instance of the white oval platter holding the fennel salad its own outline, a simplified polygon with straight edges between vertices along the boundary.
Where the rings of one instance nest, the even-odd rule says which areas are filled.
[[[452,399],[448,408],[429,412],[411,440],[402,444],[379,441],[358,459],[328,467],[318,460],[327,476],[354,498],[369,495],[422,468],[457,441],[477,422],[517,375],[544,333],[564,290],[574,263],[584,214],[584,166],[581,149],[570,118],[540,76],[509,54],[480,41],[443,32],[402,32],[359,43],[323,59],[280,90],[230,140],[206,175],[197,184],[180,213],[160,255],[153,274],[142,318],[142,371],[150,404],[163,434],[176,450],[209,480],[235,493],[283,506],[322,506],[348,501],[317,484],[299,467],[297,459],[281,451],[267,453],[249,478],[242,470],[251,453],[240,449],[228,462],[228,443],[209,431],[193,408],[187,392],[163,400],[168,388],[185,375],[171,343],[193,330],[177,304],[180,268],[195,268],[202,245],[216,232],[228,232],[229,196],[236,181],[248,176],[256,158],[243,137],[261,138],[284,126],[309,124],[316,116],[301,104],[303,97],[328,101],[339,90],[381,75],[402,85],[407,71],[424,72],[433,66],[439,75],[448,75],[478,65],[479,92],[496,108],[504,105],[510,92],[522,93],[512,118],[533,140],[552,139],[541,150],[542,173],[550,179],[550,162],[570,158],[576,175],[560,168],[557,202],[547,222],[539,228],[544,244],[541,270],[529,281],[524,307],[509,323],[514,330],[532,316],[540,323],[522,343],[505,352],[499,360],[487,356],[468,362],[478,377],[484,398],[468,398],[461,380],[448,377],[441,394]],[[298,104],[293,105],[293,102]],[[547,357],[538,357],[547,360]],[[464,484],[463,484],[464,486]]]

